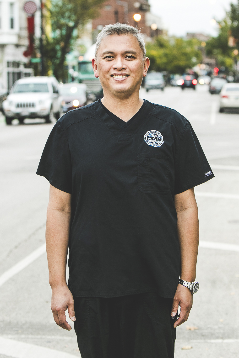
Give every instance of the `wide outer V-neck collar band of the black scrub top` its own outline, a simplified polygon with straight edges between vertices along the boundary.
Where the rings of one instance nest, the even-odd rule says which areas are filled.
[[[96,111],[100,120],[106,125],[106,127],[114,134],[116,139],[120,142],[128,142],[135,132],[138,131],[143,122],[150,115],[150,112],[154,109],[154,105],[147,101],[142,111],[138,116],[129,124],[129,126],[122,131],[120,127],[113,121],[112,118],[106,113],[104,108],[99,103],[99,100],[95,102],[94,110]]]

